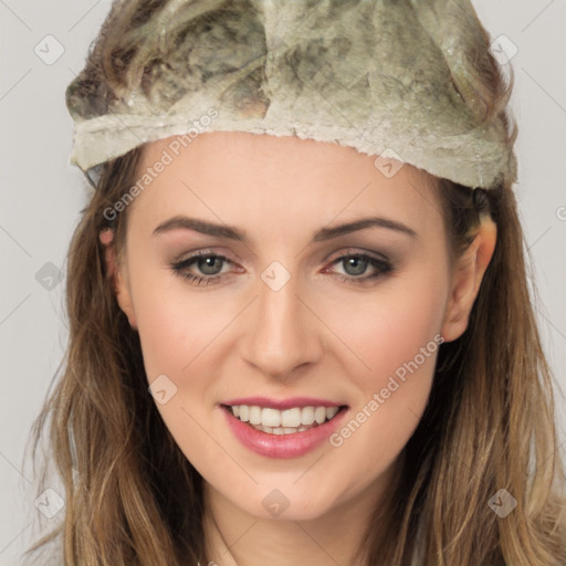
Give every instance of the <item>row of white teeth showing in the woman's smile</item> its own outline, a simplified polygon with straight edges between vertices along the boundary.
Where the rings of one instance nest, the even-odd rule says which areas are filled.
[[[279,410],[256,405],[222,405],[233,417],[251,428],[269,434],[294,434],[319,427],[345,411],[339,407],[294,407]]]

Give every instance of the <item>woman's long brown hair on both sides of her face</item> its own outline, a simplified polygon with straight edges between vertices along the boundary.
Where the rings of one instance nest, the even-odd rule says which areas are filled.
[[[114,13],[115,24],[108,19],[93,52],[116,92],[133,59],[136,25],[159,2],[146,4]],[[476,25],[483,35],[465,54],[474,82],[462,96],[479,122],[499,119],[512,146],[516,127],[509,128],[505,114],[512,81],[505,86]],[[60,528],[31,551],[61,537],[69,566],[181,566],[202,557],[202,478],[147,391],[138,334],[116,303],[98,239],[112,228],[113,245],[124,249],[128,209],[112,221],[104,210],[135,184],[140,151],[103,165],[73,234],[65,365],[34,426],[35,447],[49,433],[66,506]],[[376,510],[368,525],[360,547],[368,566],[415,559],[438,566],[566,564],[553,380],[512,186],[513,179],[501,179],[485,191],[438,181],[453,256],[470,244],[483,214],[495,221],[497,241],[467,331],[440,347],[427,410],[389,493],[387,523]],[[500,490],[516,501],[505,517],[489,505]]]

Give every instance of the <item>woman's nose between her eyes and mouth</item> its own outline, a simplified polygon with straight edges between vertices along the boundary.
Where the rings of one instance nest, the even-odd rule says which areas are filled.
[[[301,296],[296,277],[277,291],[260,279],[258,290],[259,296],[244,313],[242,356],[262,374],[291,380],[321,359],[322,323]]]

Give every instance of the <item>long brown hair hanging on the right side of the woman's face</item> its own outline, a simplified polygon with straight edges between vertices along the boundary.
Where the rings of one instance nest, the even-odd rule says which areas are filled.
[[[553,379],[527,289],[516,200],[503,184],[472,192],[441,179],[439,189],[455,255],[485,213],[497,242],[467,331],[440,347],[427,409],[388,499],[387,527],[377,530],[385,517],[376,511],[366,533],[367,564],[408,565],[418,552],[418,565],[564,565]],[[510,496],[516,507],[506,516],[490,509]]]

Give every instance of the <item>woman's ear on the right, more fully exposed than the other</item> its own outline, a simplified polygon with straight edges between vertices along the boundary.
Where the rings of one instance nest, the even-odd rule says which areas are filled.
[[[470,248],[457,260],[442,322],[441,335],[446,342],[455,340],[468,328],[470,313],[495,250],[496,240],[495,222],[490,217],[484,217]]]

